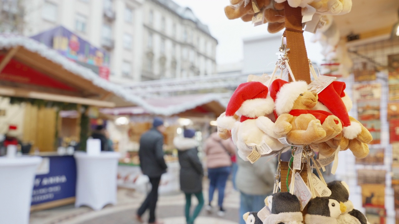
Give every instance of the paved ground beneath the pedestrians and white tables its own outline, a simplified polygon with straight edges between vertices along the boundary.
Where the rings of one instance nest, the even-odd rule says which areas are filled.
[[[207,181],[204,181],[205,203],[208,201],[207,186]],[[216,216],[216,210],[211,214],[202,210],[196,224],[237,224],[239,219],[239,193],[233,190],[231,182],[227,183],[225,192],[225,216]],[[94,211],[85,206],[75,208],[73,205],[68,205],[32,212],[30,224],[138,224],[134,219],[134,214],[144,197],[145,195],[130,189],[119,189],[118,204],[115,206],[109,205],[100,211]],[[216,204],[216,200],[217,193],[215,193],[213,204]],[[192,201],[194,208],[196,199]],[[165,224],[185,224],[184,204],[185,198],[182,193],[160,196],[156,210],[157,218],[164,221]],[[148,219],[148,212],[144,214],[143,219]]]

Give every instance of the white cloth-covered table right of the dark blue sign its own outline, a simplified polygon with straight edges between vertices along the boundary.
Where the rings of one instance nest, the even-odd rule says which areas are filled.
[[[99,155],[75,152],[77,169],[75,207],[101,210],[117,203],[117,168],[120,153],[102,151]]]

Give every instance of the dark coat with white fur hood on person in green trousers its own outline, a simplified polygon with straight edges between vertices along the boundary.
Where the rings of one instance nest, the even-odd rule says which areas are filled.
[[[202,191],[203,168],[198,158],[198,142],[192,138],[175,138],[174,145],[179,152],[180,189],[184,193]]]

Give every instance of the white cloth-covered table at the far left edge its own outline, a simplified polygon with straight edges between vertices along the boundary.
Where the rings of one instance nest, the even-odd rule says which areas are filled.
[[[36,167],[41,157],[0,157],[0,223],[28,224]]]

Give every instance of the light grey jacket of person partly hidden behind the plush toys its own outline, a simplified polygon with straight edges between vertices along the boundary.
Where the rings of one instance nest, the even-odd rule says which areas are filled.
[[[247,195],[271,195],[273,193],[277,169],[276,157],[261,157],[251,164],[237,156],[237,164],[235,183],[241,192]]]

